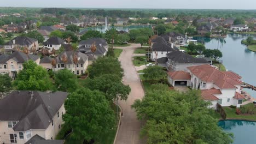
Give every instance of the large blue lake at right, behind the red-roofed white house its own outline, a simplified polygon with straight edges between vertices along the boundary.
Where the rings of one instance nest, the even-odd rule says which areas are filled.
[[[205,41],[206,49],[222,51],[223,57],[220,61],[226,69],[242,76],[244,82],[256,86],[256,52],[249,51],[245,45],[241,44],[241,40],[249,36],[249,34],[228,34],[226,38],[194,37],[194,39]],[[251,36],[256,39],[256,35]],[[243,90],[256,98],[256,91],[247,88]]]

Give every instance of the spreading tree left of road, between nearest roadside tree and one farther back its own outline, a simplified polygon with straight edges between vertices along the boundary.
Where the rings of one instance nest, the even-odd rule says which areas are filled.
[[[103,92],[106,94],[106,98],[109,101],[117,98],[126,100],[131,92],[131,88],[124,85],[124,83],[121,82],[121,78],[113,74],[103,74],[94,79],[89,79],[85,87]]]

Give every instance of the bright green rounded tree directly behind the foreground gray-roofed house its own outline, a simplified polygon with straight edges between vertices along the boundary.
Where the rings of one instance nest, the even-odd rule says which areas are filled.
[[[53,88],[46,69],[31,60],[24,62],[14,85],[19,90],[30,91],[47,91]]]

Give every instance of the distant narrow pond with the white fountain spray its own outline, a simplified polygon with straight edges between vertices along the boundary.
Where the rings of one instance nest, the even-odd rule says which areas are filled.
[[[130,29],[137,29],[137,28],[152,28],[152,25],[130,25],[130,26],[108,26],[107,29],[115,28],[117,31],[126,31],[129,32]],[[106,27],[105,26],[96,26],[96,27],[87,27],[87,30],[96,30],[102,33],[105,33]],[[84,31],[81,29],[80,31]]]

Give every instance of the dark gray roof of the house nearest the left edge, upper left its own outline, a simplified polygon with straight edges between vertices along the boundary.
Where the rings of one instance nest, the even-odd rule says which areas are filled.
[[[37,41],[36,39],[32,39],[28,37],[16,37],[8,41],[7,43],[5,43],[5,45],[14,45],[13,43],[14,40],[15,40],[15,44],[18,44],[18,45],[31,45]]]

